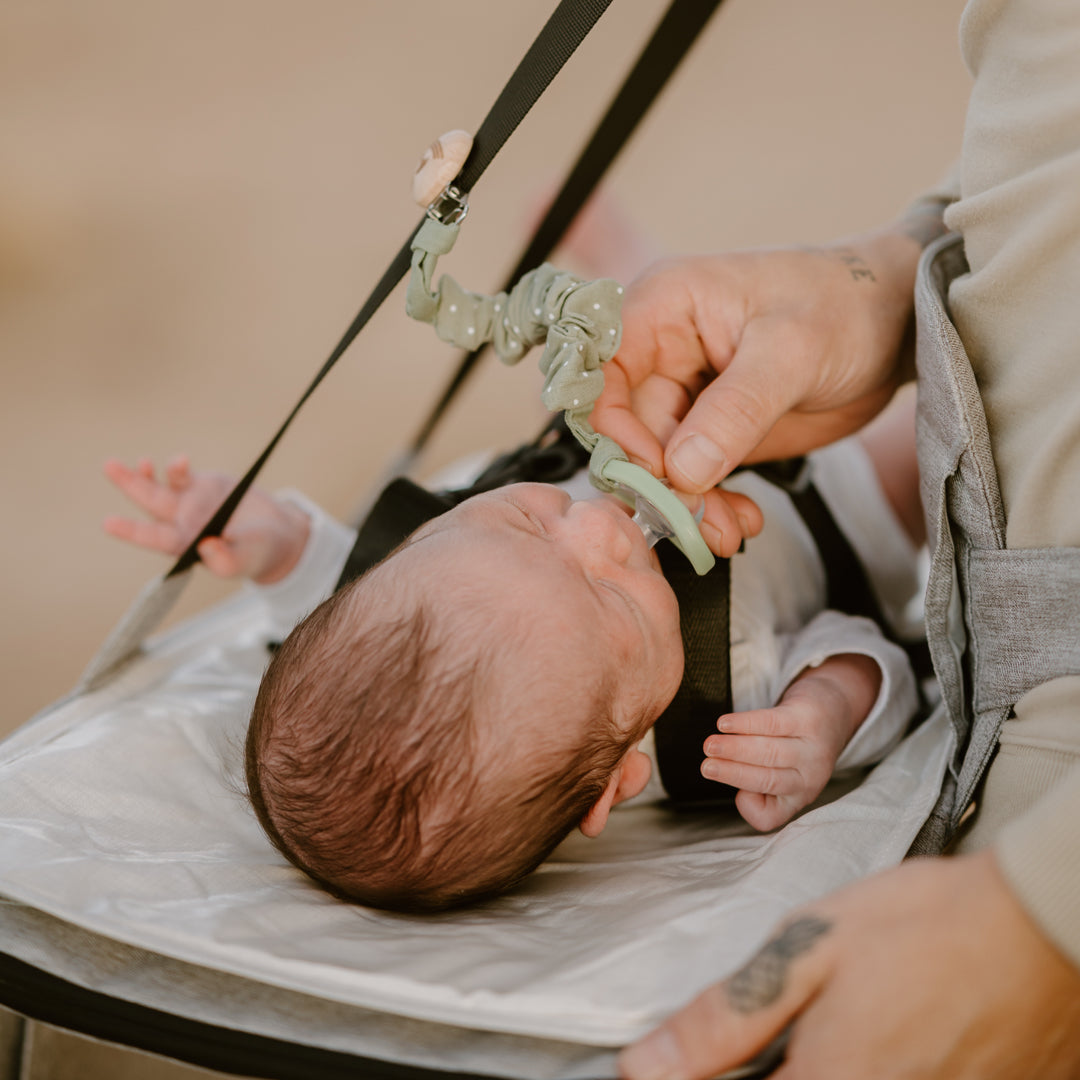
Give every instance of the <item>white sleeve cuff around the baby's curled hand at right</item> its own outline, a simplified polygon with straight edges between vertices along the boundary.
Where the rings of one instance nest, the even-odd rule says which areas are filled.
[[[881,672],[877,701],[837,760],[837,770],[870,765],[900,742],[918,704],[915,674],[907,653],[889,642],[877,623],[840,611],[822,611],[802,630],[783,635],[780,648],[774,701],[780,700],[799,672],[818,667],[829,657],[843,653],[869,657]]]

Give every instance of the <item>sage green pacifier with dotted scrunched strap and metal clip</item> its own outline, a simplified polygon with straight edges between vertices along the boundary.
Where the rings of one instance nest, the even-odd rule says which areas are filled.
[[[509,294],[470,293],[446,274],[432,292],[438,256],[453,248],[467,212],[464,194],[453,185],[428,206],[428,218],[413,239],[406,312],[431,323],[440,338],[459,348],[490,342],[505,364],[516,364],[531,346],[543,345],[541,400],[551,411],[564,411],[566,426],[590,451],[593,486],[634,509],[634,522],[650,546],[667,537],[698,573],[707,573],[716,557],[694,515],[663,481],[631,462],[618,443],[589,423],[604,389],[600,367],[619,348],[622,286],[610,279],[582,281],[545,262]]]

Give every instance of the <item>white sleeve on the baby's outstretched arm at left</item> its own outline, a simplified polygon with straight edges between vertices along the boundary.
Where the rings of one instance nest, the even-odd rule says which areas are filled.
[[[279,491],[275,497],[307,515],[311,523],[308,543],[288,577],[272,585],[248,583],[247,588],[265,605],[273,634],[285,637],[309,611],[334,592],[356,540],[356,532],[299,491]]]

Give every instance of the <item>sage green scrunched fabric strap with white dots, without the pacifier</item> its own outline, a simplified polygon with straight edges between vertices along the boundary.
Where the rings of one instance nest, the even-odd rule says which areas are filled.
[[[626,455],[600,435],[589,415],[604,389],[600,365],[610,360],[622,337],[622,286],[610,279],[583,281],[544,262],[510,291],[485,296],[462,288],[444,274],[432,292],[440,255],[457,240],[459,226],[426,220],[413,240],[413,273],[405,310],[430,323],[438,337],[461,349],[490,342],[504,364],[516,364],[535,345],[543,345],[541,400],[562,409],[575,437],[591,451],[589,472],[602,490],[616,485],[602,475],[604,465]]]

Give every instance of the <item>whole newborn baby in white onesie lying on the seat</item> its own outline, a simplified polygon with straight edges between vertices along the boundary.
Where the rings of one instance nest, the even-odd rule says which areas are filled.
[[[919,540],[902,524],[918,528],[910,403],[814,460],[902,624]],[[148,462],[106,472],[153,518],[109,518],[107,530],[168,552],[231,484],[184,459],[161,482]],[[726,486],[744,510],[760,505],[765,526],[732,561],[735,712],[718,717],[701,771],[739,788],[742,815],[771,829],[836,768],[900,739],[915,683],[875,624],[824,609],[820,561],[786,497],[752,473]],[[302,497],[253,491],[200,554],[261,585],[287,630],[333,588],[352,538]],[[288,633],[252,715],[252,802],[279,849],[336,895],[393,910],[494,895],[571,828],[597,836],[617,804],[662,794],[650,728],[683,663],[675,596],[621,503],[541,484],[478,495]]]

